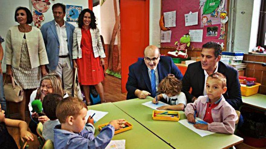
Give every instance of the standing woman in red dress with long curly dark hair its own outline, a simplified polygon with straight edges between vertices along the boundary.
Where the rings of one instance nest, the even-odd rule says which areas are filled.
[[[96,26],[94,13],[84,9],[79,14],[78,26],[73,33],[73,67],[78,68],[79,82],[83,86],[86,102],[89,104],[89,85],[94,85],[105,102],[102,81],[105,54]]]

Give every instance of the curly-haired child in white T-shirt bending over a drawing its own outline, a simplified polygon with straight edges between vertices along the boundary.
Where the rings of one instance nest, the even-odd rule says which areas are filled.
[[[158,92],[163,94],[155,96],[152,103],[156,104],[157,101],[164,100],[167,104],[170,104],[169,106],[158,107],[158,110],[184,110],[187,99],[186,95],[181,92],[181,88],[182,81],[178,80],[173,74],[169,74],[158,86]]]

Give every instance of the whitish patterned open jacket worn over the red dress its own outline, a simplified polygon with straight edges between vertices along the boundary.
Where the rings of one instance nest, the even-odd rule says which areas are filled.
[[[102,41],[99,33],[99,29],[96,27],[96,29],[90,28],[90,34],[92,37],[92,49],[94,57],[100,57],[104,58],[105,53],[103,51],[102,47]],[[81,45],[81,28],[76,27],[73,32],[73,50],[72,50],[72,59],[82,58],[82,50],[80,48]]]

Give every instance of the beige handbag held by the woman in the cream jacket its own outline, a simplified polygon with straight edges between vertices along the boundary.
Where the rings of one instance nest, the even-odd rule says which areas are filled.
[[[6,76],[5,76],[6,79]],[[21,102],[23,100],[23,88],[15,85],[13,76],[11,76],[12,83],[6,83],[4,79],[4,93],[6,101]]]

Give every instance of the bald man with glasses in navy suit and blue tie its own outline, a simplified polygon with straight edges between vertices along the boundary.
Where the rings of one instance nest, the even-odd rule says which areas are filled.
[[[144,59],[129,66],[127,99],[155,97],[159,83],[170,73],[177,79],[183,78],[171,57],[160,57],[159,48],[149,45],[144,50]]]

